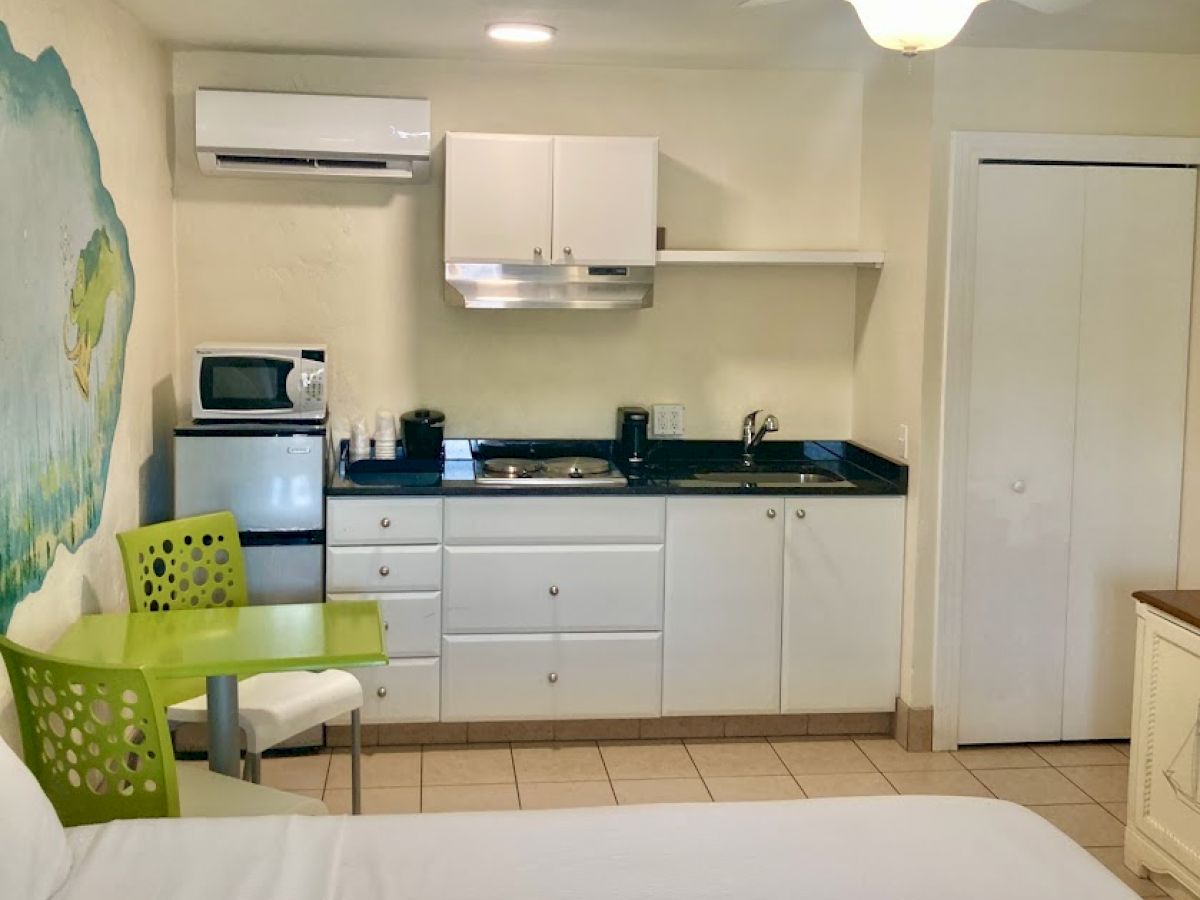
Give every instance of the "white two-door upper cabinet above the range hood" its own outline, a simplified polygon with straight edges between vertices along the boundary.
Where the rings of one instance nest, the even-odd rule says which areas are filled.
[[[448,263],[654,265],[658,138],[446,134]]]

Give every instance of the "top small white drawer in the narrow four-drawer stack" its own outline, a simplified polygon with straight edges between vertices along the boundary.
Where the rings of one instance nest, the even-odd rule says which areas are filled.
[[[334,546],[442,542],[440,497],[331,497],[325,514]]]

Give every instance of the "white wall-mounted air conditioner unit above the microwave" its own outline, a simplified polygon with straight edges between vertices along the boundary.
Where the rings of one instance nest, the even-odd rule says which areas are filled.
[[[196,91],[196,156],[209,175],[430,178],[430,101]]]

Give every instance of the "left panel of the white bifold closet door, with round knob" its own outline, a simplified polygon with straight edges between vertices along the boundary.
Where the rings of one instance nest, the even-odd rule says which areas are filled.
[[[1062,727],[1086,170],[980,168],[959,740]]]

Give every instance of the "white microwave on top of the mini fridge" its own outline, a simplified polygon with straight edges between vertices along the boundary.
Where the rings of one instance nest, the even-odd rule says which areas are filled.
[[[198,421],[325,420],[324,344],[203,343],[192,366]]]

